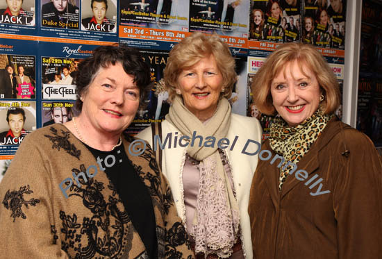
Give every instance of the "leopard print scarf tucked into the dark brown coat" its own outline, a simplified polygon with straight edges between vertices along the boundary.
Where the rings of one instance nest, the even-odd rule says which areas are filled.
[[[280,167],[279,190],[293,168],[292,165],[288,165],[285,169],[283,167],[288,161],[297,164],[301,160],[333,116],[333,114],[324,115],[322,110],[318,109],[311,117],[294,127],[288,126],[281,117],[276,117],[270,128],[269,145],[285,159]]]

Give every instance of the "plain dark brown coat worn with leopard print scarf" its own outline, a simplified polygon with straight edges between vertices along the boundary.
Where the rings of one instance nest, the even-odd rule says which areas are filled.
[[[268,141],[262,149],[272,151]],[[332,119],[281,192],[274,156],[259,162],[251,186],[254,258],[382,257],[382,162],[366,135]],[[299,169],[308,172],[306,180],[295,177]],[[321,192],[330,193],[312,196],[320,185],[310,186],[319,178]]]

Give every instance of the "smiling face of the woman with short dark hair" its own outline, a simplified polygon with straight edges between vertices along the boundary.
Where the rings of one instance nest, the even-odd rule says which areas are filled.
[[[83,94],[81,117],[100,133],[122,133],[133,121],[140,103],[134,76],[120,62],[101,67]]]

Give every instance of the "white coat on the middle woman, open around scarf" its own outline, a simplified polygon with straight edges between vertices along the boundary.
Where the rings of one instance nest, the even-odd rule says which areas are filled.
[[[177,143],[176,148],[174,148],[174,133],[178,132],[176,137],[179,140],[179,137],[182,135],[181,132],[178,131],[174,125],[167,122],[167,120],[163,121],[161,126],[162,143],[164,143],[166,135],[168,133],[172,133],[171,147],[168,147],[168,142],[166,146],[163,147],[162,171],[169,181],[172,195],[176,203],[176,210],[178,211],[178,215],[181,217],[183,224],[185,225],[183,167],[185,163],[187,147],[179,147]],[[223,149],[224,153],[226,153],[226,157],[229,160],[228,162],[231,167],[233,176],[233,185],[236,191],[236,199],[238,200],[238,205],[240,208],[242,249],[244,251],[244,256],[249,259],[253,258],[251,226],[249,223],[248,215],[249,190],[251,188],[252,177],[254,176],[254,172],[258,163],[258,153],[260,152],[260,147],[258,147],[254,141],[261,145],[261,134],[262,129],[257,119],[232,114],[231,124],[226,136],[226,138],[228,138],[230,141],[229,147]],[[141,131],[137,135],[137,137],[142,138],[143,140],[147,140],[151,148],[153,148],[151,127],[145,128],[144,131]],[[237,140],[235,145],[232,147],[235,137],[237,137]],[[252,140],[253,142],[248,140]],[[206,140],[203,142],[205,141]],[[215,142],[216,145],[217,142],[218,140]],[[247,149],[244,150],[246,143],[248,144]],[[195,144],[199,144],[199,140],[197,140]],[[242,153],[242,151],[256,154],[250,156],[248,154]]]

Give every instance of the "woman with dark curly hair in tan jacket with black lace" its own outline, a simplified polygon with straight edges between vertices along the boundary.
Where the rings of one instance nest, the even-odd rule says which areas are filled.
[[[78,117],[28,134],[0,183],[1,256],[192,258],[153,152],[123,133],[151,88],[139,51],[99,47],[76,79]]]

